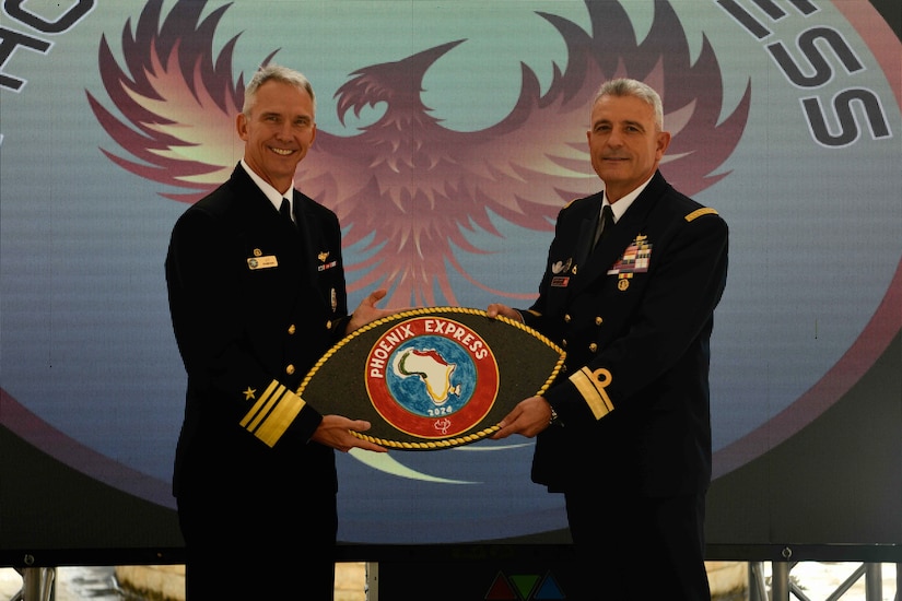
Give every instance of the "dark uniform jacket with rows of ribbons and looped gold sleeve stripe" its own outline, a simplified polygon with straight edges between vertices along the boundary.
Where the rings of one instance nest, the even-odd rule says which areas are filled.
[[[532,479],[550,491],[703,493],[727,225],[656,173],[593,251],[601,198],[561,210],[539,297],[523,311],[567,354],[546,392],[563,427],[538,436]]]

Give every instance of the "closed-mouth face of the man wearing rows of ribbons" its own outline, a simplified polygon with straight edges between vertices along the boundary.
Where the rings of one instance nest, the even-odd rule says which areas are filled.
[[[586,138],[591,166],[611,202],[652,177],[670,143],[670,133],[655,125],[652,105],[635,96],[599,97]]]

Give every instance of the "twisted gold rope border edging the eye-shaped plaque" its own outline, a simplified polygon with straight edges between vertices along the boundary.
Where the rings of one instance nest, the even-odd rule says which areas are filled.
[[[519,321],[514,321],[503,315],[499,315],[494,318],[490,318],[489,314],[482,309],[472,309],[469,307],[424,307],[419,309],[408,309],[401,313],[397,313],[389,317],[383,317],[382,319],[376,319],[371,321],[366,326],[363,326],[343,339],[341,339],[338,343],[335,344],[325,355],[319,357],[319,361],[316,362],[316,365],[313,366],[313,369],[304,378],[304,381],[301,382],[301,386],[297,388],[297,394],[301,396],[302,391],[307,387],[307,384],[311,381],[311,378],[319,370],[324,363],[326,363],[333,354],[336,354],[339,349],[348,344],[351,340],[359,337],[360,334],[372,330],[373,328],[378,328],[384,323],[388,323],[390,321],[398,321],[400,319],[407,319],[409,317],[419,317],[423,315],[433,315],[438,313],[460,313],[460,314],[468,314],[468,315],[478,315],[484,317],[487,319],[494,319],[497,321],[502,321],[507,323],[508,326],[513,326],[515,328],[519,328],[520,330],[525,331],[526,333],[530,334],[532,338],[538,339],[549,347],[551,347],[555,353],[558,353],[558,363],[554,365],[554,369],[552,369],[551,375],[546,379],[542,387],[536,392],[537,396],[541,396],[548,390],[548,387],[551,386],[551,382],[554,381],[554,378],[558,377],[558,374],[561,370],[561,367],[564,365],[564,358],[566,357],[566,353],[563,349],[554,344],[551,340],[549,340],[543,334],[539,333],[538,331],[534,330],[529,326],[525,323],[520,323]],[[491,426],[489,428],[482,429],[476,434],[469,434],[467,436],[459,436],[457,438],[447,438],[444,440],[432,440],[429,443],[400,443],[398,440],[386,440],[385,438],[376,438],[374,436],[367,436],[366,434],[361,434],[359,432],[351,431],[351,434],[360,438],[361,440],[367,440],[370,443],[375,443],[376,445],[380,445],[383,447],[390,447],[396,449],[405,449],[405,450],[436,450],[436,449],[446,449],[452,447],[459,447],[460,445],[466,445],[469,443],[476,443],[490,434],[493,434],[501,429],[499,425]]]

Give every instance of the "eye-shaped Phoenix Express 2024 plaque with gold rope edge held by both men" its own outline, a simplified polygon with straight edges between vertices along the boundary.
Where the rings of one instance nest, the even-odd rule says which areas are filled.
[[[519,401],[544,392],[564,352],[479,309],[411,309],[352,332],[326,353],[297,393],[321,414],[367,420],[355,436],[405,450],[475,443]]]

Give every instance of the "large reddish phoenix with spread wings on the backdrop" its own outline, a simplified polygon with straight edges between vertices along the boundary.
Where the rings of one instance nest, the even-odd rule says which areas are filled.
[[[112,161],[181,190],[161,191],[163,197],[194,202],[224,181],[241,156],[233,126],[244,99],[243,75],[236,78],[232,69],[237,36],[215,55],[213,38],[227,5],[201,17],[206,0],[180,0],[165,16],[162,4],[149,0],[133,31],[126,23],[124,64],[106,37],[101,40],[101,76],[119,116],[91,92],[87,97],[120,148],[103,151]],[[320,128],[295,174],[298,188],[336,211],[344,245],[364,245],[367,258],[348,266],[349,272],[360,272],[349,291],[379,284],[389,287],[390,303],[436,305],[437,290],[444,303],[456,304],[449,269],[492,290],[470,276],[455,252],[485,252],[467,233],[480,228],[501,236],[495,217],[550,229],[564,203],[600,188],[585,132],[589,104],[606,79],[630,76],[660,93],[665,126],[673,134],[661,172],[675,187],[693,195],[728,175],[718,168],[745,129],[750,85],[733,113],[721,118],[723,78],[711,45],[704,38],[693,62],[670,3],[655,0],[654,5],[643,42],[618,2],[587,0],[588,31],[537,13],[563,38],[566,66],[554,66],[542,92],[536,73],[523,64],[516,104],[500,122],[479,131],[444,127],[422,99],[429,69],[464,39],[351,73],[336,92],[339,119],[366,107],[382,113],[355,135]]]

